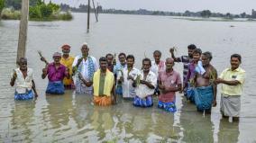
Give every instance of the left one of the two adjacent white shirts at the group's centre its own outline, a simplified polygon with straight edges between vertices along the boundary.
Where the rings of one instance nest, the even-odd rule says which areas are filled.
[[[121,71],[119,71],[119,74],[117,76],[117,80],[120,79],[120,77],[123,75],[123,97],[124,98],[133,98],[135,96],[135,88],[133,87],[133,81],[131,79],[127,80],[128,77],[128,67],[124,67],[122,69],[123,74]],[[135,67],[131,69],[129,76],[132,76],[133,79],[136,79],[136,77],[141,73],[141,71]]]

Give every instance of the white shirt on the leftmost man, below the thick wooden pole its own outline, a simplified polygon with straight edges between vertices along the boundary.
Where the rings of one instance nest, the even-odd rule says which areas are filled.
[[[16,92],[18,94],[25,94],[27,91],[32,90],[32,79],[33,79],[32,68],[27,68],[27,76],[25,78],[20,68],[16,68],[15,72],[17,74],[17,78],[15,80]],[[14,73],[12,74],[12,76],[13,75]]]

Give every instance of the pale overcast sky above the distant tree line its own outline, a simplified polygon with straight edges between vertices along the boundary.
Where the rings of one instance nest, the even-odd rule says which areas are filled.
[[[46,0],[49,1],[49,0]],[[65,3],[72,6],[87,4],[87,0],[51,0],[56,3]],[[209,9],[221,13],[250,13],[256,9],[256,0],[95,0],[106,8],[123,10],[160,10],[169,12],[198,12]]]

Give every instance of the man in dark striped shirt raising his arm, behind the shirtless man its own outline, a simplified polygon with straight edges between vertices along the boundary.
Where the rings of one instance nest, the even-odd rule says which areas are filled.
[[[169,49],[169,52],[171,54],[171,58],[174,59],[175,62],[182,62],[183,63],[183,89],[182,91],[184,91],[184,95],[186,96],[186,88],[184,88],[184,86],[187,84],[185,83],[186,77],[187,77],[187,72],[188,72],[188,65],[190,62],[192,62],[193,60],[193,52],[194,50],[197,49],[197,46],[194,44],[190,44],[187,46],[187,55],[181,56],[176,58],[174,56],[174,48]]]

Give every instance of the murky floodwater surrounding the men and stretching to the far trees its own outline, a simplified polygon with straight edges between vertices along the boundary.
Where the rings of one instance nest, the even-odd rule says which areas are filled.
[[[0,142],[256,141],[255,22],[190,22],[160,16],[101,14],[100,22],[91,22],[91,32],[87,33],[86,13],[74,14],[71,22],[29,22],[27,58],[29,67],[34,69],[40,97],[25,102],[14,101],[14,88],[9,85],[19,22],[0,22]],[[84,41],[96,58],[108,52],[133,53],[137,67],[141,67],[144,53],[151,57],[154,49],[160,49],[163,58],[167,58],[169,47],[178,46],[177,54],[186,54],[190,43],[213,52],[218,72],[229,66],[231,54],[241,53],[242,67],[247,71],[241,121],[222,120],[219,105],[211,115],[203,116],[180,94],[175,114],[156,106],[135,108],[131,101],[122,99],[111,107],[96,107],[90,96],[71,91],[62,96],[45,96],[47,80],[41,79],[44,65],[37,50],[50,59],[62,44],[69,43],[72,54],[77,55]],[[181,64],[175,68],[181,73]],[[219,99],[220,94],[218,103]]]

